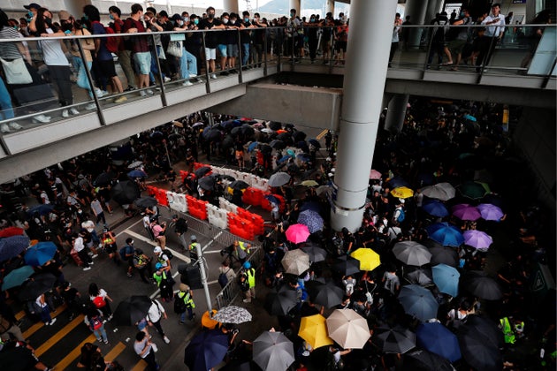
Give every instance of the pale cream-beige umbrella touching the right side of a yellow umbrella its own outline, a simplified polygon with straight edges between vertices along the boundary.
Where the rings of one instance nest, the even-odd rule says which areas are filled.
[[[335,309],[326,322],[329,337],[345,349],[362,349],[370,338],[368,322],[352,309]]]

